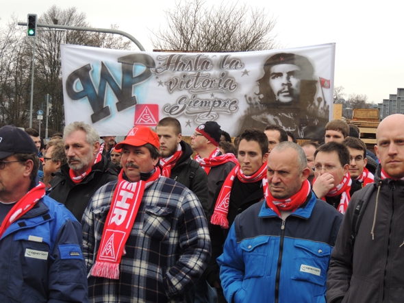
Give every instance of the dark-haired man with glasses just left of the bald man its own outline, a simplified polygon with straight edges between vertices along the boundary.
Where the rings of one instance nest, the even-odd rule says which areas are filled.
[[[349,154],[349,174],[352,178],[351,197],[355,191],[359,191],[367,184],[373,183],[375,176],[366,168],[368,159],[366,158],[366,145],[359,138],[348,137],[342,143],[348,147]]]

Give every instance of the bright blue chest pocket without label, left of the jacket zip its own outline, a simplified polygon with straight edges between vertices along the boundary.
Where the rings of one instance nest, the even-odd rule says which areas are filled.
[[[240,243],[243,250],[245,268],[244,279],[258,278],[270,272],[270,263],[266,263],[268,259],[268,241],[269,237],[257,237],[246,239]]]

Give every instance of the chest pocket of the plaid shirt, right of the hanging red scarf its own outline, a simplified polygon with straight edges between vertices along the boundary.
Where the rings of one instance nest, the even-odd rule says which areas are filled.
[[[173,223],[171,213],[173,213],[171,208],[146,206],[142,228],[144,234],[157,241],[168,239]]]

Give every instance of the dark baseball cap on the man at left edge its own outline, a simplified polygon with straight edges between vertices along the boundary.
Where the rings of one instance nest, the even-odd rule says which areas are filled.
[[[38,154],[38,147],[24,130],[14,125],[5,125],[0,128],[0,159],[16,153]]]

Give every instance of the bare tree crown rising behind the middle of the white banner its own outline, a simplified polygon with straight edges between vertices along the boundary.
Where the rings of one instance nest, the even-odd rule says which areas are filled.
[[[155,49],[173,51],[257,51],[279,47],[276,19],[263,8],[222,2],[205,8],[203,0],[186,0],[166,10],[166,27],[152,31]]]

